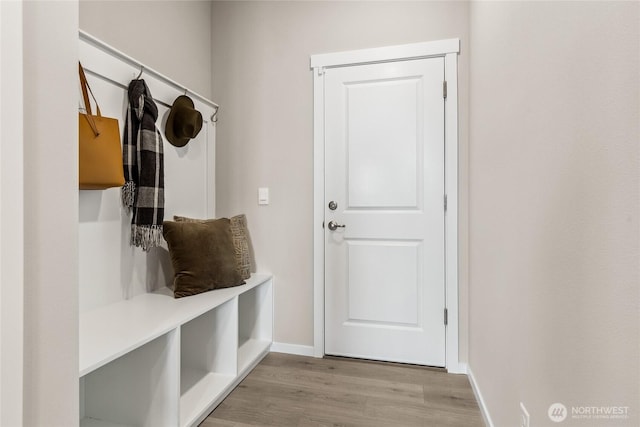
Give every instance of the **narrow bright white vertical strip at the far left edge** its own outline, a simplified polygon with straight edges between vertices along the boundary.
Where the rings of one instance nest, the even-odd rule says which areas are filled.
[[[0,425],[7,426],[22,425],[23,402],[22,62],[22,3],[0,2]]]

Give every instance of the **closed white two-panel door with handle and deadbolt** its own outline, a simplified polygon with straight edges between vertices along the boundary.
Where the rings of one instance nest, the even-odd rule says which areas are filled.
[[[444,59],[325,73],[325,353],[444,366]]]

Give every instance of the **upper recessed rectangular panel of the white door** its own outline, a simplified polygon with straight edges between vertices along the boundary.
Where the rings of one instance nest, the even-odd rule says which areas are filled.
[[[349,207],[416,207],[419,86],[415,77],[345,85]]]

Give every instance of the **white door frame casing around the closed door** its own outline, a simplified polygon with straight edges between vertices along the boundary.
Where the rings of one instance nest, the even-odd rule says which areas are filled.
[[[458,54],[460,39],[446,39],[311,56],[313,70],[313,323],[314,356],[324,356],[324,72],[327,68],[443,57],[445,101],[445,368],[464,373],[459,358],[458,311]],[[445,308],[443,307],[443,308]],[[444,315],[444,313],[443,313]],[[444,321],[444,319],[443,319]]]

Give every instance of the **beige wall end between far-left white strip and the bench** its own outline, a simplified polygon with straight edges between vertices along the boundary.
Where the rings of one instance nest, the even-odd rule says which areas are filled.
[[[76,1],[24,2],[25,426],[78,424],[77,29]]]

